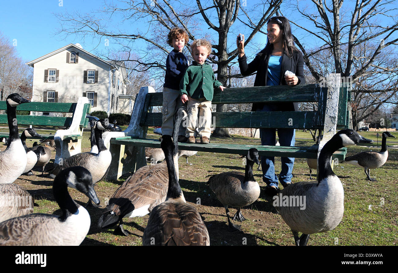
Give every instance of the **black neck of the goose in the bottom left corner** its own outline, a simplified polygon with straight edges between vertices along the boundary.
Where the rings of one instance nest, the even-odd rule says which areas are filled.
[[[67,173],[64,174],[67,175]],[[74,214],[78,210],[76,203],[69,195],[68,186],[65,181],[66,176],[58,175],[55,177],[53,183],[54,198],[59,208],[62,210],[62,215],[60,216],[61,221],[65,221],[70,214]]]

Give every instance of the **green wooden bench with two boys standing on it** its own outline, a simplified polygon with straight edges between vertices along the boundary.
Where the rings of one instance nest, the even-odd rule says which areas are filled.
[[[265,86],[227,88],[215,90],[212,104],[243,104],[255,102],[315,102],[317,111],[299,112],[214,112],[213,127],[227,128],[294,128],[322,129],[324,137],[313,146],[259,146],[238,144],[189,144],[179,143],[181,150],[244,154],[250,148],[257,148],[259,155],[318,158],[320,149],[336,133],[336,129],[348,128],[347,101],[349,92],[340,83],[339,74],[328,76],[325,87],[319,84],[289,86]],[[103,138],[112,154],[108,180],[135,171],[146,165],[145,147],[160,148],[157,139],[146,138],[148,126],[161,126],[162,113],[152,113],[152,107],[162,106],[162,92],[152,87],[142,87],[135,100],[131,122],[124,132],[107,132]],[[260,142],[260,140],[259,140]],[[334,158],[343,160],[346,148],[338,150]],[[125,154],[127,156],[125,157]]]

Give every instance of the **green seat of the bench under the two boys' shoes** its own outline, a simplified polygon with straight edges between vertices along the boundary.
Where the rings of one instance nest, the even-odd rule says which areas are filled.
[[[133,138],[133,139],[111,139],[111,144],[119,145],[135,145],[141,147],[152,147],[160,148],[160,141],[154,139],[145,138]],[[210,144],[191,144],[191,143],[179,143],[179,150],[189,150],[198,152],[215,152],[224,154],[246,154],[250,148],[256,148],[259,156],[282,156],[282,157],[294,157],[294,158],[317,158],[316,150],[309,150],[310,146],[261,146],[261,145],[238,145],[238,144],[222,144],[222,143],[210,143]],[[313,152],[312,152],[313,151]],[[346,152],[337,151],[333,158],[344,160]]]

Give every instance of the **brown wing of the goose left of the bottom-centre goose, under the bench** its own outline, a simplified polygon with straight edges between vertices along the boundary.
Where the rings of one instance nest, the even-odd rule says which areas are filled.
[[[107,211],[113,211],[115,215],[126,215],[133,208],[148,204],[151,211],[166,199],[168,182],[166,161],[144,166],[115,191],[109,199]]]

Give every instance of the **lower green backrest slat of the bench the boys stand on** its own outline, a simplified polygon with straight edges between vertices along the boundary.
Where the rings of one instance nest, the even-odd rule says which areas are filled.
[[[316,112],[214,112],[212,127],[322,129],[314,125]],[[215,124],[214,124],[215,122]],[[141,126],[161,126],[162,113],[147,113]]]

